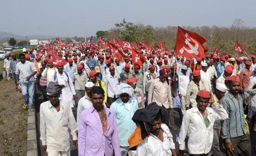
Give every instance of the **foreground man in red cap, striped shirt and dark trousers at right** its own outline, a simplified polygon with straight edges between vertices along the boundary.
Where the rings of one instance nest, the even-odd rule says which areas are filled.
[[[227,156],[251,156],[251,141],[246,130],[243,98],[239,94],[241,82],[238,76],[228,80],[229,92],[220,100],[228,119],[221,121],[221,137],[224,139]]]

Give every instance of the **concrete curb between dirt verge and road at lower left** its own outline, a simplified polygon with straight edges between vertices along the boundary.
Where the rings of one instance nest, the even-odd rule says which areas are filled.
[[[27,156],[38,156],[35,111],[28,111],[27,134]]]

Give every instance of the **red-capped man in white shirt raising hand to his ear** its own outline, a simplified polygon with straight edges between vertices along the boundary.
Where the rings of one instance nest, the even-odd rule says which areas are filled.
[[[179,152],[182,156],[185,153],[184,141],[188,135],[189,154],[208,156],[213,143],[213,124],[215,120],[225,120],[228,114],[221,105],[217,109],[208,106],[210,92],[200,90],[197,93],[197,106],[187,110],[182,119],[180,134],[178,138]]]

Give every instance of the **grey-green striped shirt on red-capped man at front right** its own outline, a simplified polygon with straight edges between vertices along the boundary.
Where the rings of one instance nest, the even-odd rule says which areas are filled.
[[[221,121],[221,137],[226,143],[230,142],[230,138],[240,137],[247,133],[245,127],[245,118],[243,112],[243,99],[238,94],[238,99],[231,92],[228,92],[220,102],[228,113],[228,119]]]

